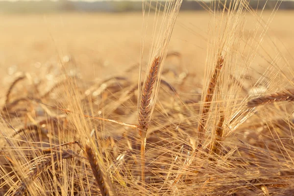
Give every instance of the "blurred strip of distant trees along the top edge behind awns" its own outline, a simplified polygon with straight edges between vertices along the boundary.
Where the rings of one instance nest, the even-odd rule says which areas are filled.
[[[156,2],[153,2],[154,5]],[[181,10],[204,10],[204,7],[214,6],[212,2],[183,0]],[[223,7],[217,2],[217,6]],[[227,6],[229,2],[227,2]],[[294,1],[277,0],[249,0],[253,9],[272,9],[279,5],[279,9],[294,9]],[[70,0],[41,0],[41,1],[0,1],[0,13],[51,13],[51,12],[130,12],[142,11],[142,0],[139,1],[70,1]]]

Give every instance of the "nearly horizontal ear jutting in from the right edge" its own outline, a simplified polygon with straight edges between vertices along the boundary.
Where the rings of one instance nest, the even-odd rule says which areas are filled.
[[[280,101],[294,101],[294,89],[287,89],[280,92],[272,93],[266,96],[253,98],[248,101],[247,106],[249,108],[259,105],[280,102]]]

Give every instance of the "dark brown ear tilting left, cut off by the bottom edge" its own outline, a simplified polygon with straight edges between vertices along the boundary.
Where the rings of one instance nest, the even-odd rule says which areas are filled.
[[[91,165],[92,172],[100,189],[100,193],[102,196],[116,196],[116,192],[112,187],[112,184],[108,177],[106,176],[106,172],[103,171],[103,168],[100,167],[100,163],[97,159],[96,154],[93,152],[92,148],[88,145],[85,147],[85,151],[87,154],[88,161]]]

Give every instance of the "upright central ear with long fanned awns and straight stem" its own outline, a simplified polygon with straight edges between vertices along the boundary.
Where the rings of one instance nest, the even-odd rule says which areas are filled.
[[[147,2],[147,1],[146,1]],[[151,3],[151,1],[150,1]],[[157,25],[153,26],[152,34],[152,47],[149,53],[149,66],[147,75],[145,77],[143,89],[141,90],[141,69],[142,59],[145,44],[145,34],[147,32],[147,24],[143,21],[143,35],[141,42],[141,60],[140,60],[140,72],[139,72],[139,91],[138,96],[138,131],[141,135],[141,180],[142,185],[145,187],[145,147],[146,147],[146,134],[148,129],[148,123],[155,107],[156,98],[160,86],[160,78],[163,70],[163,64],[168,53],[168,47],[170,44],[172,30],[180,10],[182,0],[168,0],[165,3],[158,3],[155,8],[155,19],[158,18],[160,8],[164,7],[163,17],[159,29]],[[145,18],[145,11],[147,4],[143,3],[143,19]],[[150,9],[149,9],[150,12]],[[149,13],[147,17],[149,16]],[[145,19],[144,19],[145,20]],[[157,24],[157,23],[156,23]],[[157,56],[157,57],[155,57]],[[155,57],[155,58],[154,58]]]

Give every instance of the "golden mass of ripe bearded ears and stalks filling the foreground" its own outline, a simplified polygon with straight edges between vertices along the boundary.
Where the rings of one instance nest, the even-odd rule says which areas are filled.
[[[245,0],[225,3],[204,7],[202,93],[199,75],[163,67],[181,58],[168,53],[181,0],[143,2],[139,85],[135,67],[88,82],[62,61],[53,84],[16,76],[1,99],[0,195],[293,195],[294,89],[281,88],[292,74],[279,65],[291,67],[263,56],[254,74],[278,4],[265,22]],[[246,14],[256,19],[247,37]]]

